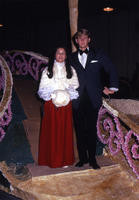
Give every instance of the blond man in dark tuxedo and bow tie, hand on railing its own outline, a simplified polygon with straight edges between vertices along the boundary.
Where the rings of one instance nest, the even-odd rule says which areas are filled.
[[[79,162],[82,167],[89,162],[93,169],[99,169],[96,162],[96,122],[102,104],[102,93],[113,94],[118,90],[118,77],[109,58],[89,46],[90,32],[81,29],[75,34],[78,50],[71,54],[70,62],[79,79],[79,98],[73,100],[73,119],[77,138]],[[109,86],[103,87],[102,72],[109,75]]]

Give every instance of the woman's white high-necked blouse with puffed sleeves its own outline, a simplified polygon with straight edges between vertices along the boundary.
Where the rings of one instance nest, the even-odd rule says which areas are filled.
[[[53,77],[48,77],[48,69],[42,72],[38,95],[44,101],[49,101],[54,97],[55,92],[66,91],[70,96],[70,100],[77,99],[79,94],[76,90],[79,87],[76,71],[72,68],[72,77],[67,79],[65,63],[54,62]]]

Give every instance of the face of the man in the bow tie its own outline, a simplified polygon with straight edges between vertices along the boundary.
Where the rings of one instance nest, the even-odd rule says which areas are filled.
[[[88,44],[90,42],[90,38],[87,35],[80,35],[76,39],[77,44],[79,45],[79,48],[81,50],[85,50],[88,47]]]

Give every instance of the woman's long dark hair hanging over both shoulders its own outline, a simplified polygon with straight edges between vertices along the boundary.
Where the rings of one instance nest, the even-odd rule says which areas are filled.
[[[58,49],[60,49],[60,48],[64,49],[65,52],[66,52],[66,48],[65,47],[58,47],[54,51],[54,54],[50,56],[49,63],[48,63],[48,74],[47,74],[49,78],[53,77],[53,66],[54,66],[55,55],[56,55],[56,51]],[[71,69],[71,66],[70,66],[70,63],[69,63],[68,56],[67,56],[67,58],[65,60],[65,67],[66,67],[66,72],[67,72],[67,78],[70,79],[73,74],[72,74],[72,69]]]

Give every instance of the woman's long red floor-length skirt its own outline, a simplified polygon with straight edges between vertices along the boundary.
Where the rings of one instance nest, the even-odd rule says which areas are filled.
[[[57,108],[52,101],[44,104],[38,164],[52,168],[74,163],[72,105]]]

